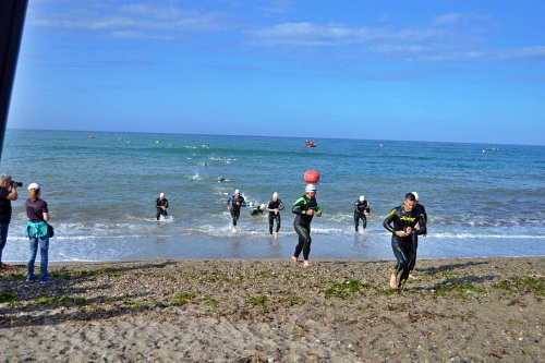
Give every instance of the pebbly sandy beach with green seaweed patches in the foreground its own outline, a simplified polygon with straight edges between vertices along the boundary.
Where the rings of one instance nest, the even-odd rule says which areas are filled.
[[[545,258],[190,259],[0,273],[2,362],[543,362]]]

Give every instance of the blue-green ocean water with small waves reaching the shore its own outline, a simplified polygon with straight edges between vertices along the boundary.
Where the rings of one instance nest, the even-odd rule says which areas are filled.
[[[419,258],[545,255],[544,146],[320,138],[305,148],[288,137],[90,134],[7,131],[0,172],[43,185],[56,228],[51,261],[288,258],[296,243],[291,206],[306,170],[320,174],[323,209],[311,258],[393,258],[383,220],[412,191],[428,214]],[[226,205],[235,189],[254,204],[278,192],[286,205],[278,239],[251,208],[231,232]],[[170,217],[157,221],[161,192]],[[354,233],[361,194],[372,216]],[[23,187],[7,262],[27,258],[25,198]]]

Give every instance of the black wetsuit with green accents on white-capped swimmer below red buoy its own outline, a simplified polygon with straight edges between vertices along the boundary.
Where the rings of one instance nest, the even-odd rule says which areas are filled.
[[[314,213],[312,215],[307,215],[306,210],[314,209]],[[306,195],[303,195],[299,199],[295,201],[295,204],[293,205],[293,209],[291,210],[294,213],[295,220],[293,221],[293,228],[295,229],[295,232],[298,232],[299,235],[299,243],[295,246],[295,253],[293,254],[294,257],[299,258],[299,255],[301,254],[301,251],[303,252],[303,257],[304,259],[308,259],[308,255],[311,254],[311,222],[312,218],[317,211],[320,211],[322,209],[319,208],[318,203],[316,202],[316,198],[308,199]]]

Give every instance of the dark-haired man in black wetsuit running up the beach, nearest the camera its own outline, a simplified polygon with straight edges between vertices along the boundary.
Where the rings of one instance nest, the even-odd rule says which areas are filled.
[[[414,194],[405,194],[403,204],[391,209],[383,223],[384,228],[392,233],[391,249],[398,261],[390,278],[390,287],[392,289],[396,289],[396,287],[400,289],[409,277],[409,267],[413,258],[415,258],[413,235],[424,234],[426,232],[424,215],[414,210],[415,204]],[[391,226],[391,223],[393,223],[393,226]],[[416,225],[419,225],[419,229],[415,229]],[[400,271],[401,275],[399,275]]]

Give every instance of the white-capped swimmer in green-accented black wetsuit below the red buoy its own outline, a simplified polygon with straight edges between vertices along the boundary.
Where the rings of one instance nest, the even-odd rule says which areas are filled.
[[[305,195],[295,201],[291,211],[295,214],[293,228],[299,235],[299,243],[295,246],[295,253],[293,253],[291,259],[298,262],[299,255],[303,252],[303,266],[306,267],[310,266],[308,255],[311,254],[312,243],[311,222],[314,216],[322,216],[322,209],[316,202],[316,186],[314,184],[306,185]]]

